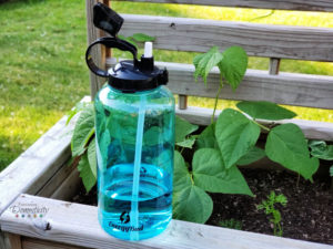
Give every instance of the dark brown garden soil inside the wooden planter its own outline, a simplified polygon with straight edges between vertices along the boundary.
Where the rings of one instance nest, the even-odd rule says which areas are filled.
[[[315,179],[313,184],[286,172],[242,169],[253,197],[211,194],[214,210],[208,225],[236,220],[241,229],[273,235],[272,225],[263,210],[256,210],[271,190],[283,194],[287,205],[276,205],[282,215],[283,237],[333,245],[333,191],[331,179]],[[85,194],[82,187],[73,197],[74,203],[97,205],[95,188]]]

